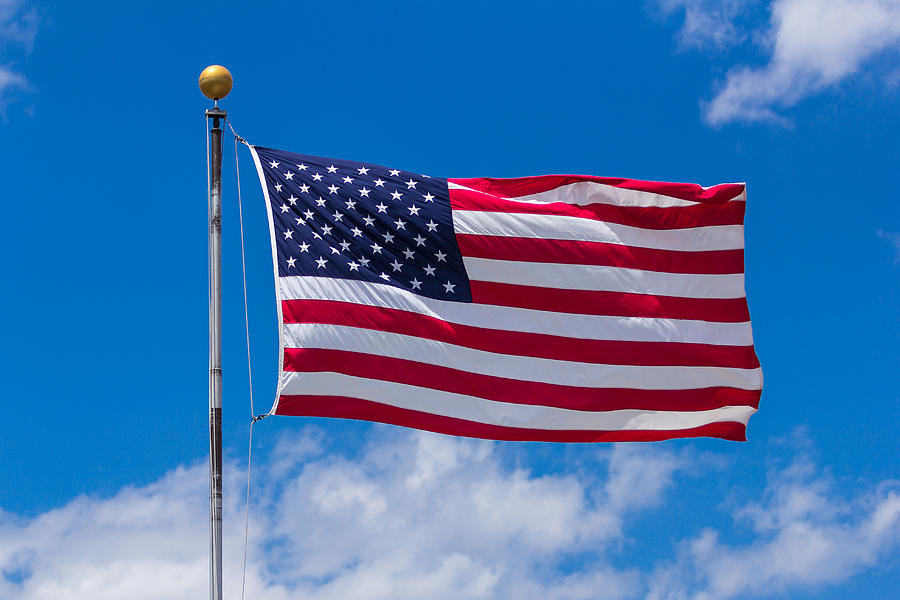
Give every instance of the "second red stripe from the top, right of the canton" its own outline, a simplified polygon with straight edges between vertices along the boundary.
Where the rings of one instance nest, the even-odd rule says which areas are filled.
[[[450,205],[454,210],[479,210],[539,215],[580,217],[609,223],[620,223],[644,229],[685,229],[713,225],[741,225],[744,222],[745,202],[725,204],[695,204],[664,208],[659,206],[616,206],[594,202],[569,204],[548,202],[537,204],[507,200],[484,192],[450,190]]]

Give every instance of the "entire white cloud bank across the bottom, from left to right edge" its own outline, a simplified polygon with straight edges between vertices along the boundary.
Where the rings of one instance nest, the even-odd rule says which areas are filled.
[[[701,523],[659,548],[652,569],[623,568],[621,548],[640,542],[629,521],[708,469],[696,456],[617,445],[577,476],[538,476],[505,466],[489,442],[392,433],[351,459],[319,439],[314,429],[287,437],[255,471],[248,598],[725,599],[838,584],[900,545],[891,484],[842,498],[801,458],[734,510],[750,543]],[[203,597],[206,469],[178,467],[34,518],[0,513],[0,597]],[[245,474],[228,473],[225,586],[237,597]]]

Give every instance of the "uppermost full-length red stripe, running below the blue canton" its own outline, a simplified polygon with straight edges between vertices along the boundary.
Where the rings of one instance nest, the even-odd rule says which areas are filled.
[[[755,369],[753,346],[586,340],[448,323],[414,312],[331,300],[283,300],[285,323],[324,323],[426,338],[498,354],[609,365]]]

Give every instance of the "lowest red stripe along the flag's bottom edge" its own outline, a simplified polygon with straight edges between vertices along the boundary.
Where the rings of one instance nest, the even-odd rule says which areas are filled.
[[[668,431],[550,431],[486,425],[345,396],[282,396],[277,415],[376,421],[446,435],[523,442],[653,442],[685,437],[746,441],[746,427],[732,421]]]

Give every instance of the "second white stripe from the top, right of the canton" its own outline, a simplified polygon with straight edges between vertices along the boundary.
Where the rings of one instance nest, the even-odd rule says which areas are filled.
[[[744,247],[742,225],[642,229],[582,217],[454,210],[453,227],[456,233],[604,242],[657,250],[703,252]]]

